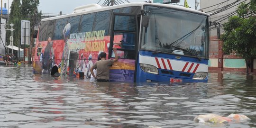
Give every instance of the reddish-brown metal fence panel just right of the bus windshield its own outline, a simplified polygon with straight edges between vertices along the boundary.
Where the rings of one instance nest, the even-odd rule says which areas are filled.
[[[209,55],[218,55],[219,39],[217,36],[210,37]]]

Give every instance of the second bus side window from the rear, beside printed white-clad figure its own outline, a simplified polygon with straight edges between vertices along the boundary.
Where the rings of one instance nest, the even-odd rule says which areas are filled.
[[[63,39],[63,28],[67,24],[67,18],[57,19],[54,28],[53,40]]]

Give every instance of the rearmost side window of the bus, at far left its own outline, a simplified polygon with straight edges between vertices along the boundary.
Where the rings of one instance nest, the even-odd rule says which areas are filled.
[[[55,20],[42,22],[40,25],[39,41],[46,41],[48,37],[53,36]]]

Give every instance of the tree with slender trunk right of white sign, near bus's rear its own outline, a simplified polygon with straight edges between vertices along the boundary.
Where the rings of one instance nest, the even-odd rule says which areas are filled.
[[[37,26],[38,20],[41,19],[41,12],[38,11],[37,6],[39,5],[39,0],[22,0],[20,6],[21,15],[23,19],[30,20],[30,43],[29,43],[29,53],[28,61],[30,63],[32,56],[32,47],[34,44],[35,26]]]

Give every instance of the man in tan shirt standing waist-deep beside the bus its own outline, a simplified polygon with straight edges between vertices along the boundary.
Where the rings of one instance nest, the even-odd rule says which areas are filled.
[[[101,60],[96,61],[90,68],[91,75],[97,79],[97,82],[109,82],[110,81],[110,66],[118,60],[117,48],[113,47],[115,59],[107,60],[107,54],[102,52],[100,54]],[[93,73],[93,69],[97,69],[97,76]]]

